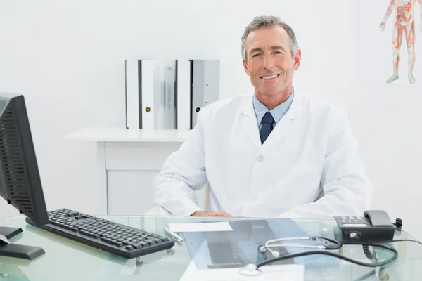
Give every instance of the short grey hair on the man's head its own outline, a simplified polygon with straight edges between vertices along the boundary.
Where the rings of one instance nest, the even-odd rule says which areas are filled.
[[[242,35],[242,57],[246,61],[246,38],[250,32],[259,30],[260,28],[271,28],[275,26],[283,27],[286,30],[288,36],[290,37],[290,50],[292,53],[292,58],[295,56],[296,52],[299,50],[298,42],[296,41],[296,35],[293,29],[286,23],[280,20],[279,17],[274,15],[260,15],[255,17],[252,22],[245,28],[245,32]]]

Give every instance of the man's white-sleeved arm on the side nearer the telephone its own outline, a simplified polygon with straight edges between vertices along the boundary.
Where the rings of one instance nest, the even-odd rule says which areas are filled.
[[[357,156],[357,140],[347,114],[336,114],[328,133],[326,157],[321,174],[324,196],[316,202],[294,207],[281,214],[290,218],[333,218],[362,216],[369,209],[373,186]],[[304,175],[306,176],[306,175]]]

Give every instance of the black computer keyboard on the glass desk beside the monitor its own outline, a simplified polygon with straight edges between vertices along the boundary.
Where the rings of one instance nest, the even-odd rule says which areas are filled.
[[[128,259],[174,246],[174,241],[167,237],[70,209],[49,211],[49,223],[42,226],[30,218],[26,218],[26,222]]]

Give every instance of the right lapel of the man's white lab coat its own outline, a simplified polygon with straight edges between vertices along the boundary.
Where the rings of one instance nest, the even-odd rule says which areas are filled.
[[[297,92],[295,92],[295,96],[293,98],[292,105],[290,105],[290,109],[286,112],[279,123],[274,127],[273,131],[269,134],[267,140],[262,145],[262,148],[269,148],[276,143],[283,141],[286,136],[290,133],[291,126],[293,119],[298,117],[302,112],[302,103],[301,98]]]

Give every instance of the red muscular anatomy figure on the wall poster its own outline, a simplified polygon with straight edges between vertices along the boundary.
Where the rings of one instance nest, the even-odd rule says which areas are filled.
[[[392,31],[392,69],[393,74],[387,81],[390,84],[392,81],[399,79],[398,69],[400,62],[400,47],[402,46],[403,33],[406,38],[407,53],[408,53],[408,79],[410,84],[414,84],[416,81],[413,76],[413,67],[415,63],[415,27],[414,27],[414,7],[418,1],[421,6],[421,17],[422,17],[422,0],[390,0],[387,12],[381,22],[381,31],[385,30],[385,22],[390,16],[392,9],[396,10],[395,24]],[[419,26],[419,32],[422,32],[422,18]]]

